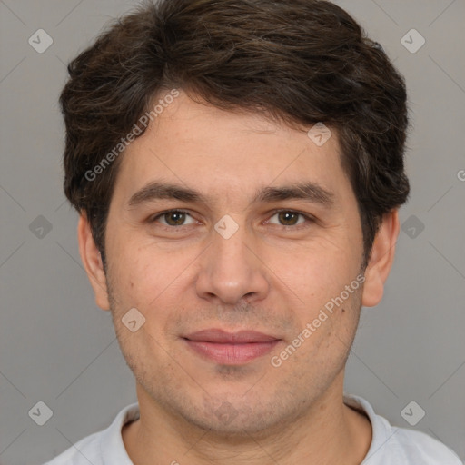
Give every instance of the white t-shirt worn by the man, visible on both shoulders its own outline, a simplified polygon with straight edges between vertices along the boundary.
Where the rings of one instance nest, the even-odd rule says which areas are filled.
[[[454,452],[427,434],[392,427],[361,397],[345,395],[344,403],[364,411],[371,421],[371,446],[361,465],[462,465]],[[134,465],[124,449],[121,430],[138,418],[138,404],[128,405],[106,430],[76,442],[45,465]]]

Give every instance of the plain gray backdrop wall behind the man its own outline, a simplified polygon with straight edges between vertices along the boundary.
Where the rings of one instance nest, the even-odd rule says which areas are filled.
[[[412,193],[401,210],[397,259],[383,302],[363,311],[346,391],[402,427],[410,427],[402,409],[416,401],[426,415],[415,429],[464,460],[465,2],[337,3],[405,75],[412,122]],[[65,64],[110,18],[135,4],[0,0],[3,465],[48,460],[136,400],[110,315],[95,306],[80,263],[77,215],[62,192],[64,132],[57,107]],[[43,54],[28,44],[39,28],[54,41]],[[401,43],[411,28],[426,39],[414,54]],[[419,44],[415,35],[405,40]],[[44,426],[28,416],[37,401],[53,411]]]

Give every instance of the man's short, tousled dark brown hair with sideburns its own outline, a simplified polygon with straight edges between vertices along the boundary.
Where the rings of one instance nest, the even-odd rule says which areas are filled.
[[[104,257],[118,157],[153,97],[178,88],[226,110],[335,129],[361,214],[365,262],[385,213],[407,199],[402,76],[350,15],[322,0],[160,0],[125,15],[68,65],[64,192]]]

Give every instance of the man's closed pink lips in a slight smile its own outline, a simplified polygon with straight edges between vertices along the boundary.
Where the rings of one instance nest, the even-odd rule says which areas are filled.
[[[266,355],[282,341],[257,331],[209,329],[183,337],[197,355],[223,365],[239,365]]]

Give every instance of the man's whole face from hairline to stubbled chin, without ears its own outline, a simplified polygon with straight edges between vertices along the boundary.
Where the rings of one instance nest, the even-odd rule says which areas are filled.
[[[202,198],[144,190],[154,183]],[[303,198],[277,194],[299,184],[312,187]],[[336,134],[318,146],[182,93],[124,153],[105,240],[118,339],[160,408],[203,428],[252,432],[340,393],[363,250]],[[145,318],[134,332],[122,322],[133,308]],[[213,330],[272,341],[226,344]]]

